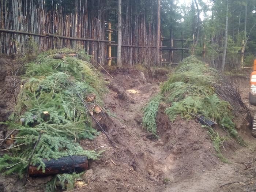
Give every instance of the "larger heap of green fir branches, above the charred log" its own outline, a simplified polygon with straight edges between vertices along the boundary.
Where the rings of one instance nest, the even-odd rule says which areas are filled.
[[[56,54],[62,56],[54,59]],[[17,131],[14,143],[7,150],[10,153],[0,158],[3,174],[16,172],[23,177],[29,164],[45,172],[45,159],[72,155],[99,157],[78,143],[99,134],[92,128],[90,114],[80,97],[87,105],[94,106],[91,114],[99,113],[101,108],[94,102],[102,105],[105,89],[89,60],[85,53],[50,50],[26,64],[17,106],[10,121],[5,123],[8,129]]]

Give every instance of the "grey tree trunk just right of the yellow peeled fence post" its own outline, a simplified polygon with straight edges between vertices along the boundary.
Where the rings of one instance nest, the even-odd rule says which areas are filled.
[[[122,67],[122,0],[118,0],[117,67]]]

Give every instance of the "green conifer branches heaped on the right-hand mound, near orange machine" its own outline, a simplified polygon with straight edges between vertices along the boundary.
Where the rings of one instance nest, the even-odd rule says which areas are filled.
[[[204,116],[242,142],[233,120],[237,113],[249,111],[232,84],[202,61],[195,57],[184,59],[161,86],[160,94],[158,97],[165,103],[163,106],[170,121],[173,122],[178,115],[187,120]],[[150,108],[154,106],[154,101],[155,98],[145,108],[143,119],[158,110]],[[159,100],[155,104],[158,106]],[[149,112],[150,110],[154,112]],[[155,121],[155,118],[150,121]],[[149,131],[156,133],[156,124],[151,122],[144,125],[147,125]],[[154,128],[148,125],[154,125]]]

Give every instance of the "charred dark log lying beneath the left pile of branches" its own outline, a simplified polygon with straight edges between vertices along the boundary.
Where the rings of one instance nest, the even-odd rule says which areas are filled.
[[[88,160],[86,156],[68,156],[57,160],[43,160],[45,163],[45,172],[42,168],[37,170],[39,165],[29,166],[29,176],[46,176],[61,173],[81,173],[88,169]]]

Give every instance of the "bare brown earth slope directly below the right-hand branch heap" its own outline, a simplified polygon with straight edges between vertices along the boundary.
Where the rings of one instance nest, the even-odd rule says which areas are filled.
[[[201,124],[180,117],[171,123],[161,106],[157,121],[158,135],[167,152],[165,174],[170,175],[173,182],[194,177],[219,163],[212,141]]]

